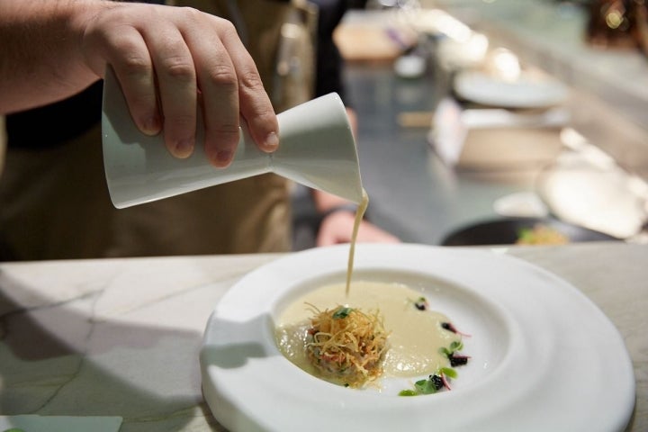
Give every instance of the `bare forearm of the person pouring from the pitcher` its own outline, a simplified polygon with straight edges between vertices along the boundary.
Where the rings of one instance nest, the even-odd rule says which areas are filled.
[[[0,0],[0,113],[63,99],[96,81],[85,64],[85,23],[101,0]]]

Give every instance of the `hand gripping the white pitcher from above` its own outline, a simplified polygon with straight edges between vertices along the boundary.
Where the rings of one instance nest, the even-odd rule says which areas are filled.
[[[110,65],[142,132],[164,132],[175,157],[195,145],[197,107],[202,107],[205,154],[228,166],[247,123],[257,146],[278,147],[278,123],[257,67],[226,20],[195,9],[154,4],[102,4],[86,9],[85,63],[97,76]],[[241,120],[242,118],[242,120]]]

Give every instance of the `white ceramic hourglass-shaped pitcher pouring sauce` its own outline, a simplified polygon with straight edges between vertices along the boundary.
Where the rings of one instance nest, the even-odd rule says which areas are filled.
[[[226,168],[211,166],[205,157],[200,118],[193,155],[173,157],[162,134],[151,137],[139,131],[121,86],[108,68],[103,83],[103,165],[115,207],[269,172],[352,202],[362,201],[356,141],[338,94],[278,114],[280,145],[274,153],[259,150],[243,129],[234,159]]]

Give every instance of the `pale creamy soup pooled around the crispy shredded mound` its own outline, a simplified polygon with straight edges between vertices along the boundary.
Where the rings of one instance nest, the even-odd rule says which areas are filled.
[[[346,293],[346,284],[331,284],[307,293],[290,304],[276,326],[277,345],[293,364],[313,374],[306,356],[307,331],[313,316],[312,306],[323,311],[340,305],[362,311],[379,311],[389,332],[383,362],[385,376],[415,377],[434,374],[449,366],[439,348],[450,347],[461,336],[444,329],[450,320],[434,310],[422,308],[421,293],[403,284],[354,282]]]

